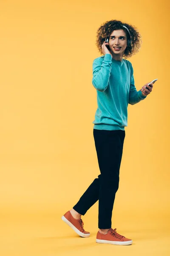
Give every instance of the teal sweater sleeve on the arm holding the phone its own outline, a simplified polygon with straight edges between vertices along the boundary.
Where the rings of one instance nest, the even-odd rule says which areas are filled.
[[[141,100],[145,99],[146,96],[143,96],[142,91],[137,91],[135,87],[135,81],[133,77],[133,67],[131,66],[131,79],[130,79],[130,92],[129,92],[129,104],[134,105]]]

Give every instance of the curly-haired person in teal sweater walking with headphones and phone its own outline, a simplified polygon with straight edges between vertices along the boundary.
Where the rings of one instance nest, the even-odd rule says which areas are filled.
[[[127,106],[144,100],[153,87],[153,84],[147,86],[147,83],[139,91],[136,90],[133,67],[127,60],[138,52],[140,38],[134,26],[119,20],[107,21],[97,30],[96,46],[103,55],[93,62],[92,84],[97,92],[98,104],[93,134],[100,175],[94,179],[77,204],[62,216],[62,220],[79,236],[89,237],[90,233],[83,228],[81,215],[85,215],[99,200],[98,243],[128,245],[133,242],[111,227],[111,217],[119,187]]]

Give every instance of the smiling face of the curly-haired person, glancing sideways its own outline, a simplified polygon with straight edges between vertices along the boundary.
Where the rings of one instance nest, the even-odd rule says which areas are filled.
[[[123,56],[127,47],[127,36],[123,29],[113,30],[109,38],[109,46],[113,55]],[[114,47],[121,48],[116,50]]]

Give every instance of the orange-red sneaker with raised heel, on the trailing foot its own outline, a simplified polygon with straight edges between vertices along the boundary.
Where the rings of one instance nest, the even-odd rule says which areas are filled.
[[[89,237],[90,233],[85,231],[83,228],[83,221],[81,218],[75,219],[72,215],[71,212],[68,211],[66,212],[62,217],[62,220],[68,224],[79,236],[82,237]]]

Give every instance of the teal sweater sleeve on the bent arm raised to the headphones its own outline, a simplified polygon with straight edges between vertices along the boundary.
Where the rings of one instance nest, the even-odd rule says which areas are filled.
[[[105,54],[104,60],[96,58],[93,61],[93,79],[92,84],[101,92],[104,92],[108,87],[109,77],[111,75],[112,56],[109,53]]]

